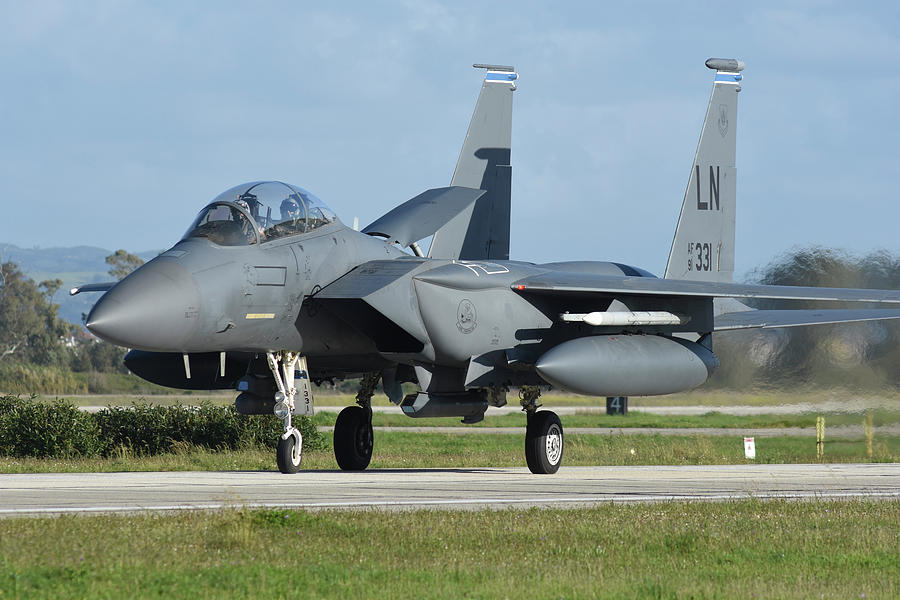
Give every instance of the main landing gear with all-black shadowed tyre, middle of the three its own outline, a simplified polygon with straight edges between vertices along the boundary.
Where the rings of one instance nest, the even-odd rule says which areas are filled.
[[[381,376],[366,373],[359,383],[356,406],[348,406],[334,423],[334,458],[344,471],[362,471],[372,460],[372,396]]]

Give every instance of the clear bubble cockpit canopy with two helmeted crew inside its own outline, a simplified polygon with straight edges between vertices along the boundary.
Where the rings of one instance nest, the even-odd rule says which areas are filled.
[[[220,246],[247,246],[314,231],[335,220],[324,202],[301,187],[256,181],[216,196],[183,239],[202,237]]]

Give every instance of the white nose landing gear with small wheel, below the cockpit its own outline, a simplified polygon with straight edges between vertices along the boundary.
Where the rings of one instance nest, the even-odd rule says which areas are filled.
[[[275,416],[284,421],[284,433],[278,440],[278,450],[275,454],[278,470],[282,473],[296,473],[300,470],[300,463],[303,462],[303,435],[291,423],[291,416],[313,413],[312,389],[309,385],[306,357],[284,350],[277,353],[267,352],[266,359],[278,387],[278,391],[275,392]],[[296,403],[297,388],[294,387],[294,371],[298,366],[302,381],[299,406]]]

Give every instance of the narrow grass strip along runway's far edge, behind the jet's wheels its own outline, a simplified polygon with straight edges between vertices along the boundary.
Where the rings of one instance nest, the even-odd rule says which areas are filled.
[[[337,469],[330,448],[304,452],[304,469]],[[376,433],[373,469],[524,467],[524,436],[443,433]],[[900,437],[876,437],[872,458],[864,440],[829,440],[826,462],[900,462]],[[743,438],[723,436],[577,435],[566,436],[563,464],[718,465],[814,463],[815,438],[759,438],[757,458],[744,458]],[[107,458],[33,459],[0,457],[0,473],[110,471],[274,471],[272,450],[213,451],[183,446],[177,452],[136,456],[121,452]]]

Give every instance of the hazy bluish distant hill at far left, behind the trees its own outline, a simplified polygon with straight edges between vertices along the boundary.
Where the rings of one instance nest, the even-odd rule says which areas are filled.
[[[0,242],[0,261],[12,261],[34,281],[62,279],[63,286],[53,296],[59,304],[59,315],[71,323],[81,324],[82,313],[91,310],[98,294],[70,296],[69,289],[83,283],[110,281],[109,265],[106,257],[113,250],[96,246],[74,246],[70,248],[20,248],[14,244]],[[137,253],[142,259],[150,260],[160,251],[148,250]]]

